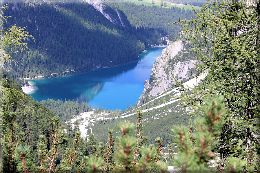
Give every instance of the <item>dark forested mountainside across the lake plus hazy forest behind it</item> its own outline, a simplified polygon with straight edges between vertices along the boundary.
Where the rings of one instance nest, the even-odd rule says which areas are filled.
[[[118,9],[126,14],[131,26],[123,28],[112,24],[84,2],[5,2],[9,3],[9,9],[4,14],[10,16],[6,28],[14,24],[26,27],[35,38],[35,41],[26,41],[28,51],[18,51],[14,55],[19,64],[6,66],[7,75],[20,85],[25,82],[19,78],[52,73],[56,74],[45,78],[62,76],[135,61],[146,47],[159,44],[161,37],[171,33],[170,39],[173,39],[179,29],[169,25],[170,21],[178,20],[180,16],[191,18],[189,10],[180,8],[163,9],[131,3],[116,8],[109,3],[113,9],[108,9]],[[154,11],[157,14],[150,15]]]

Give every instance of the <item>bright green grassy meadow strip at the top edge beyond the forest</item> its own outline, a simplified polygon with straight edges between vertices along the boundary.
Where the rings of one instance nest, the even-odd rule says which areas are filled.
[[[143,0],[143,1],[128,0],[128,1],[136,3],[136,4],[143,4],[143,5],[146,5],[146,6],[161,6],[161,1],[160,0],[154,1],[154,4],[152,4],[152,1],[150,1],[150,0]],[[201,7],[198,7],[198,6],[182,5],[182,4],[177,4],[177,5],[167,4],[167,8],[169,8],[169,7],[179,7],[179,8],[184,8],[185,10],[186,9],[192,10],[192,7],[194,9],[197,9],[197,10],[201,9]]]

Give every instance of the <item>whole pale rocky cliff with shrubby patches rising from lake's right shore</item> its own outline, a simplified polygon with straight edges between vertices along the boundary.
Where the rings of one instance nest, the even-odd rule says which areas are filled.
[[[150,79],[144,82],[144,91],[138,104],[142,105],[150,98],[171,89],[171,83],[175,82],[172,74],[178,81],[194,76],[195,63],[197,60],[193,57],[190,44],[186,41],[174,42],[163,49],[153,64]]]

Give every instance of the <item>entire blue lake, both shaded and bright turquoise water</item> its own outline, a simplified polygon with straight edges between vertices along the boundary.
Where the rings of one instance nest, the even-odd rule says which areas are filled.
[[[143,92],[143,83],[149,80],[152,65],[163,48],[149,48],[139,60],[121,66],[97,69],[86,73],[58,78],[30,80],[38,89],[32,93],[35,100],[88,101],[92,109],[126,109],[134,105]]]

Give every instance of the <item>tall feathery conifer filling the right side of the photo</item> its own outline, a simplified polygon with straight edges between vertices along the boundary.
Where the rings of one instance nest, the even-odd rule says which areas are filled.
[[[175,87],[183,94],[177,98],[193,112],[200,112],[204,99],[223,95],[229,113],[224,117],[216,151],[228,156],[239,139],[247,149],[254,146],[259,113],[260,1],[209,0],[191,20],[179,20],[185,36],[194,44],[199,60],[198,85]],[[207,54],[207,55],[206,55]],[[195,115],[195,114],[192,114]]]

